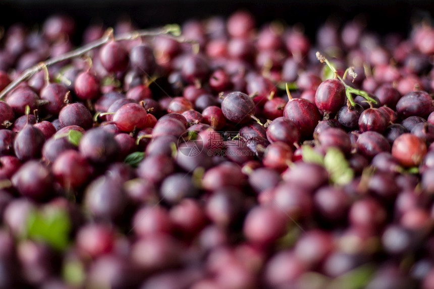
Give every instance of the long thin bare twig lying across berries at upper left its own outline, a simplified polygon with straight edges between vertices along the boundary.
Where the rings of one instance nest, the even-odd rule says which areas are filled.
[[[48,59],[44,62],[40,62],[39,64],[26,69],[17,79],[15,79],[13,82],[11,82],[3,91],[0,93],[0,99],[5,97],[6,94],[11,92],[14,88],[16,88],[21,82],[26,81],[30,79],[33,75],[38,73],[39,71],[45,69],[46,67],[55,65],[59,62],[73,59],[75,57],[79,57],[86,52],[97,48],[99,46],[104,45],[107,42],[110,41],[124,41],[124,40],[134,40],[138,37],[144,37],[144,36],[158,36],[163,34],[173,34],[174,36],[179,36],[180,33],[180,27],[176,24],[167,25],[161,28],[153,29],[153,30],[136,30],[128,33],[124,33],[118,36],[113,37],[113,30],[109,31],[108,33],[105,33],[103,37],[101,37],[98,40],[95,40],[93,42],[90,42],[80,48],[77,48],[75,50],[69,51],[65,54],[59,55],[57,57],[53,57],[51,59]]]

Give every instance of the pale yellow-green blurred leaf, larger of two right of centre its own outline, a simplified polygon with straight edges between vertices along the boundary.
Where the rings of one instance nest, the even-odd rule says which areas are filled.
[[[336,185],[346,185],[354,178],[354,171],[345,155],[337,148],[330,148],[325,153],[324,166],[330,174],[331,181]]]

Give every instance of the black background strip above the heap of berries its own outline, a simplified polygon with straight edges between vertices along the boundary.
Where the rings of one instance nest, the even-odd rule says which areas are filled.
[[[357,15],[364,15],[369,29],[383,34],[406,33],[414,19],[430,19],[434,1],[0,0],[0,25],[8,27],[16,22],[34,25],[53,13],[63,12],[77,20],[79,30],[96,21],[111,26],[126,16],[140,28],[146,28],[212,15],[227,17],[241,8],[253,13],[258,25],[275,19],[289,25],[302,23],[309,36],[328,19],[343,23]]]

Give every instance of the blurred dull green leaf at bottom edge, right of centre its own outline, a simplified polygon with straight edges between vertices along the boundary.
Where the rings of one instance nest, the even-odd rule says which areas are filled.
[[[362,289],[371,280],[375,268],[371,264],[359,266],[329,283],[327,289]]]

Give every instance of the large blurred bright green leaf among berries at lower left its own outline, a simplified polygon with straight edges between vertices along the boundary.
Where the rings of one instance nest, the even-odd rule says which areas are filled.
[[[71,222],[68,214],[61,209],[32,211],[27,219],[27,238],[47,243],[57,250],[64,250],[69,244]]]

